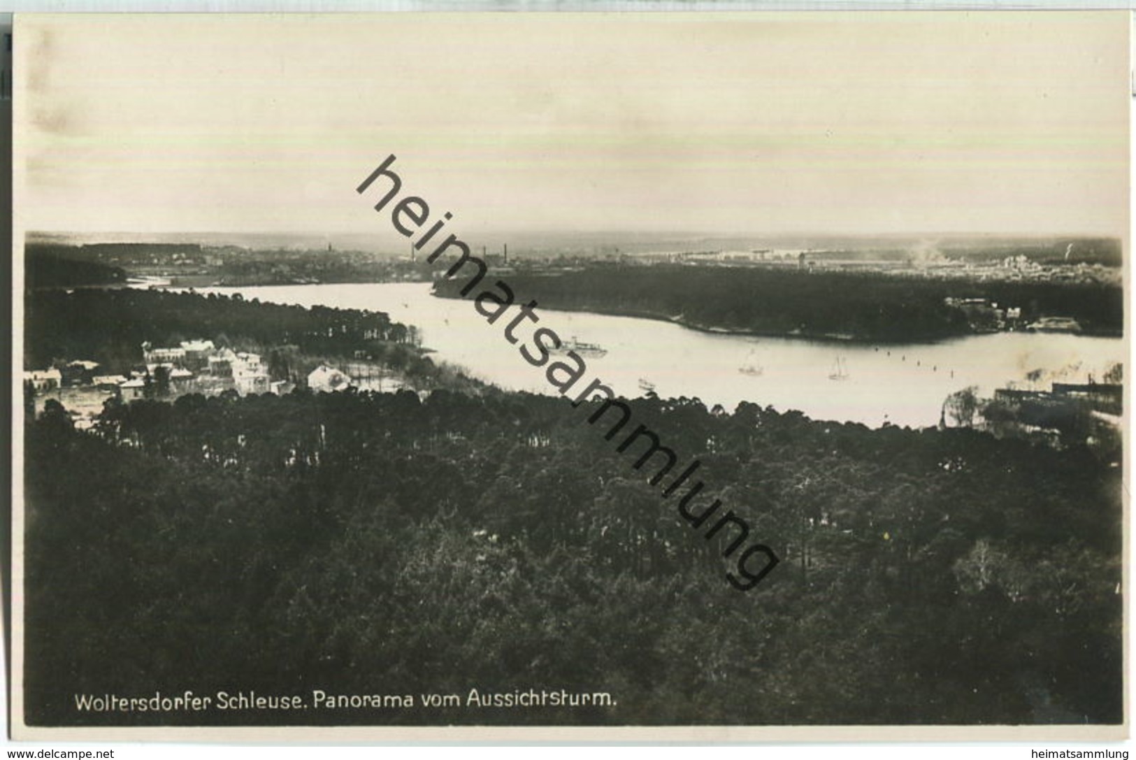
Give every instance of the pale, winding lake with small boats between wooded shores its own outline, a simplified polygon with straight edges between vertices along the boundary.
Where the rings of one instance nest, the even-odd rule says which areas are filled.
[[[554,393],[544,368],[518,353],[536,327],[607,350],[585,357],[588,373],[618,394],[636,396],[648,384],[660,396],[698,398],[733,410],[741,401],[800,409],[813,419],[922,427],[938,423],[951,393],[977,386],[984,395],[1014,384],[1049,390],[1050,383],[1097,381],[1122,362],[1125,341],[1067,334],[994,333],[937,343],[870,345],[788,337],[747,337],[688,329],[653,319],[541,309],[540,325],[517,328],[521,343],[503,335],[516,309],[490,325],[471,301],[438,299],[428,283],[364,283],[214,287],[245,299],[386,311],[421,331],[435,360],[500,387]],[[743,369],[747,371],[742,371]],[[1035,371],[1036,370],[1036,371]],[[1030,382],[1027,375],[1035,373]],[[583,383],[576,389],[583,390]]]

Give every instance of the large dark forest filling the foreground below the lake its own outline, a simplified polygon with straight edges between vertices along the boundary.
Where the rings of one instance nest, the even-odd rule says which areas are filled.
[[[782,558],[754,590],[562,399],[187,395],[109,403],[89,433],[49,402],[26,429],[28,723],[1122,719],[1119,468],[968,429],[629,403]],[[617,704],[418,701],[475,687]],[[415,705],[75,708],[156,688]]]

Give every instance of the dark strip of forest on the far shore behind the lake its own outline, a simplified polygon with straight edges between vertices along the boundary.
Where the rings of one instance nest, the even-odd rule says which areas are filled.
[[[987,298],[1021,308],[1026,320],[1074,317],[1086,333],[1119,335],[1124,327],[1124,289],[1099,284],[665,265],[510,273],[503,279],[519,302],[535,299],[544,308],[671,319],[690,327],[761,335],[902,342],[971,332],[966,315],[945,306],[946,298]],[[457,298],[466,283],[460,275],[438,281],[435,292]]]

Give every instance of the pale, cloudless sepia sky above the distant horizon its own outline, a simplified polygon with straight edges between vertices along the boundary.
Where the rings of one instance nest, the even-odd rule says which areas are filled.
[[[16,18],[17,224],[1128,228],[1125,11]]]

